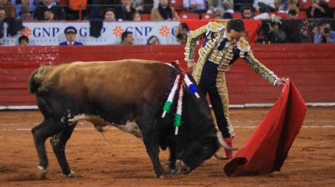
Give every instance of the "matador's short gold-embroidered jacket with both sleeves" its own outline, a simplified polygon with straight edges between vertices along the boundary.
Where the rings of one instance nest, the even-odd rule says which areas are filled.
[[[206,60],[218,64],[219,72],[226,72],[237,58],[241,57],[254,72],[274,85],[278,77],[253,56],[250,45],[243,37],[237,44],[230,44],[228,48],[218,51],[218,41],[223,37],[224,33],[225,26],[216,22],[209,22],[206,26],[202,26],[188,35],[184,53],[186,61],[194,60],[196,42],[204,38],[204,43],[198,51],[198,63],[193,71],[195,81],[199,83],[202,66]]]

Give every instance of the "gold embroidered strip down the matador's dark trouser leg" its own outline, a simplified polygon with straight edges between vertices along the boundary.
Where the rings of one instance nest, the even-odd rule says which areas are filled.
[[[232,124],[229,120],[229,99],[228,89],[225,83],[225,72],[218,72],[218,75],[216,77],[216,88],[218,89],[218,95],[220,96],[222,102],[223,112],[225,113],[225,120],[227,120],[228,123],[228,132],[230,134],[230,137],[234,137],[234,128],[232,128]]]

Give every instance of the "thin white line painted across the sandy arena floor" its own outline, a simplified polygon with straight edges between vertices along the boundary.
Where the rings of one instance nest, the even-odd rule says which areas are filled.
[[[233,125],[234,129],[255,129],[258,126],[257,125]],[[335,128],[335,125],[333,124],[327,124],[327,125],[303,125],[302,128],[306,129],[327,129],[327,128]],[[75,131],[80,131],[80,130],[91,130],[95,129],[93,127],[76,127]],[[107,130],[112,129],[115,130],[117,129],[116,127],[109,127],[106,128]],[[31,131],[31,128],[17,128],[17,129],[0,129],[0,131]]]

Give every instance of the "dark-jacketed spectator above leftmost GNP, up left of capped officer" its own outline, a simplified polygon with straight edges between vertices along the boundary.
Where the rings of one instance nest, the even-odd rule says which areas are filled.
[[[66,18],[64,8],[59,6],[59,3],[54,0],[43,0],[40,2],[34,12],[34,18],[44,20],[44,12],[46,10],[52,10],[54,13],[54,20],[64,20]]]

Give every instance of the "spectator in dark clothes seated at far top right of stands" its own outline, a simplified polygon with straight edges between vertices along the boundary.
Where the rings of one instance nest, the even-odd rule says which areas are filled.
[[[312,5],[306,12],[308,18],[330,17],[328,4],[326,2],[320,3],[320,0],[312,0]]]

